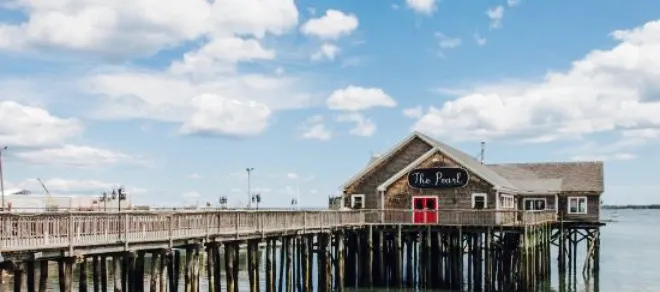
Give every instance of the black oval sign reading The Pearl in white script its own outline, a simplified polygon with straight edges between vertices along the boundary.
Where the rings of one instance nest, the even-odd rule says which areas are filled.
[[[468,172],[458,167],[418,168],[408,173],[408,185],[419,189],[464,187],[469,180]]]

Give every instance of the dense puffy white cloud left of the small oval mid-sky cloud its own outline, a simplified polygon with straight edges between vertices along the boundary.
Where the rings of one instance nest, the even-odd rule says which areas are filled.
[[[180,128],[186,135],[254,136],[268,127],[271,115],[263,104],[213,94],[194,97],[192,104],[195,111]]]

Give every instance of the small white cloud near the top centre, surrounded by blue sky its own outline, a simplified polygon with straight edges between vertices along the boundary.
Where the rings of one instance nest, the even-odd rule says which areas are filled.
[[[300,27],[300,31],[305,35],[321,39],[338,39],[351,34],[358,25],[358,19],[354,14],[328,9],[322,17],[312,18],[305,22]]]

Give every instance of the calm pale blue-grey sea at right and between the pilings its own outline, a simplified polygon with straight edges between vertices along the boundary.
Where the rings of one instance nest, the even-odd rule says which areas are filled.
[[[660,233],[655,232],[660,223],[660,210],[605,210],[603,218],[613,219],[615,222],[610,222],[601,229],[601,271],[598,283],[594,283],[593,278],[585,280],[578,275],[575,284],[560,285],[557,273],[553,272],[550,287],[543,289],[544,291],[660,291]],[[581,248],[584,253],[584,247]],[[553,254],[552,257],[553,268],[556,268],[554,264],[557,256]],[[579,270],[583,261],[584,256],[581,255],[578,258]],[[204,270],[202,272],[205,274]],[[91,275],[91,271],[88,274]],[[51,266],[49,275],[49,291],[59,290],[55,266]],[[224,281],[224,275],[222,277]],[[240,290],[249,291],[247,274],[242,272],[240,279]],[[12,278],[7,277],[4,282],[0,285],[0,291],[12,291]],[[180,283],[183,284],[183,281]],[[206,283],[206,279],[202,279],[202,291],[206,291]],[[92,291],[91,281],[89,284],[89,290]],[[77,286],[75,283],[74,291]],[[112,284],[108,285],[108,289],[112,290]],[[183,287],[179,291],[183,291]]]

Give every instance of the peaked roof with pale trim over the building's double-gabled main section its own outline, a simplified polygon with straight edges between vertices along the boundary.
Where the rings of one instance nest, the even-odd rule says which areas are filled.
[[[459,165],[465,167],[468,171],[470,171],[472,174],[480,177],[481,179],[487,181],[491,185],[493,185],[496,189],[502,189],[502,190],[510,190],[510,191],[518,191],[518,188],[512,184],[511,182],[507,181],[505,178],[491,170],[490,168],[486,167],[485,165],[481,164],[480,161],[475,159],[474,157],[468,155],[467,153],[460,151],[456,148],[453,148],[447,144],[444,144],[440,141],[437,141],[429,136],[426,136],[420,132],[413,132],[410,136],[408,136],[403,142],[401,142],[399,145],[397,145],[394,149],[390,150],[387,152],[385,155],[382,155],[376,161],[373,163],[369,164],[364,170],[353,176],[351,180],[349,180],[346,184],[344,184],[344,188],[348,187],[350,184],[354,183],[357,179],[362,177],[363,175],[367,174],[369,171],[386,161],[389,157],[391,157],[394,153],[396,153],[398,150],[403,148],[405,145],[407,145],[410,141],[412,141],[415,138],[419,138],[422,141],[428,143],[429,145],[433,146],[433,149],[429,150],[422,156],[428,155],[430,157],[433,153],[435,152],[441,152],[442,154],[446,155],[450,159],[452,159],[454,162],[458,163]],[[427,158],[428,158],[427,157]],[[397,174],[395,174],[393,177],[387,180],[387,182],[394,183],[394,181],[398,180],[401,178],[403,175],[407,174],[409,172],[406,171],[407,169],[412,169],[419,165],[424,161],[424,159],[418,158],[417,160],[413,161],[410,163],[406,168],[402,169],[399,171]],[[390,183],[390,184],[391,184]],[[381,186],[385,186],[385,184],[381,184]],[[389,186],[389,185],[387,185]],[[387,187],[385,186],[385,188]],[[380,189],[380,186],[379,186]]]

